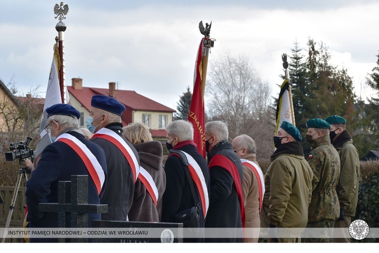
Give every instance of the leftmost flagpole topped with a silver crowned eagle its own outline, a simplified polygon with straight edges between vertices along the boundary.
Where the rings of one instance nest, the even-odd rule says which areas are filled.
[[[63,19],[66,19],[65,15],[68,13],[68,5],[63,6],[63,2],[61,2],[61,5],[59,6],[58,4],[55,5],[54,7],[54,14],[57,16],[55,17],[56,19],[59,19],[59,22],[55,26],[55,29],[58,32],[58,49],[59,49],[59,58],[61,62],[61,67],[59,69],[59,87],[61,90],[61,100],[62,103],[66,103],[66,73],[65,73],[65,61],[64,61],[64,42],[65,42],[65,36],[64,33],[66,31],[66,24],[62,22]]]

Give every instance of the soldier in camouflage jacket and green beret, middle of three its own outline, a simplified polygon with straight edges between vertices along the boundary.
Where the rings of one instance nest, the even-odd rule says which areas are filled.
[[[313,171],[312,200],[308,210],[307,228],[324,230],[319,234],[319,238],[305,238],[304,241],[333,242],[335,220],[340,217],[337,195],[341,171],[340,156],[330,143],[328,122],[321,118],[311,118],[307,121],[307,128],[305,139],[311,146],[307,161]]]

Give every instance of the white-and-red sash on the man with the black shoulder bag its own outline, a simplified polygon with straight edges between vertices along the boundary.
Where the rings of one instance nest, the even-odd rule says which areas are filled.
[[[192,179],[194,180],[196,184],[196,187],[198,188],[200,200],[203,206],[204,218],[205,218],[208,212],[208,207],[209,207],[209,197],[208,197],[208,188],[207,188],[207,184],[205,183],[203,172],[199,164],[194,159],[194,157],[192,157],[191,155],[187,154],[186,152],[182,150],[178,150],[178,151],[182,152],[185,155],[185,157],[187,157],[189,175],[191,175]],[[175,153],[172,153],[172,154],[179,156],[178,154],[175,154]]]

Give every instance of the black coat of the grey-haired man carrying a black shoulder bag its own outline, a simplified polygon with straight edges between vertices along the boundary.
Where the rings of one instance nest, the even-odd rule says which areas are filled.
[[[197,148],[194,145],[185,145],[178,150],[184,151],[191,155],[195,161],[199,164],[204,179],[208,188],[209,195],[209,169],[204,157],[199,154]],[[179,210],[190,208],[195,205],[194,197],[191,192],[191,187],[187,179],[187,175],[184,170],[188,170],[182,163],[181,159],[177,155],[170,155],[165,163],[166,172],[166,190],[163,194],[163,206],[162,206],[162,222],[175,222],[174,215]],[[200,200],[199,191],[194,182],[194,188]],[[203,214],[203,206],[200,201],[200,227],[204,228],[205,220]],[[202,230],[204,231],[204,230]],[[184,242],[204,242],[204,237],[199,238],[184,238]]]

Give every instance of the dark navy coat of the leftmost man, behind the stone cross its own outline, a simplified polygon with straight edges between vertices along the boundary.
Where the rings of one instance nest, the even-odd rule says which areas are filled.
[[[107,164],[104,150],[75,131],[67,132],[81,141],[98,159],[107,180]],[[39,203],[58,203],[58,182],[71,181],[71,175],[88,175],[88,203],[100,204],[100,197],[84,162],[67,144],[57,141],[47,146],[26,183],[27,221],[30,228],[58,227],[58,213],[38,211]],[[101,195],[104,193],[104,186]],[[100,195],[100,196],[101,196]],[[100,220],[100,214],[88,215],[88,227],[92,220]],[[33,239],[31,239],[33,241]],[[58,240],[57,240],[58,241]]]

